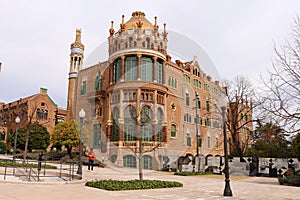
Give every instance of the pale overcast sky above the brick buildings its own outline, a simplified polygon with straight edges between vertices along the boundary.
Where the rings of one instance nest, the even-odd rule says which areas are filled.
[[[300,1],[0,0],[0,102],[36,94],[43,87],[59,107],[66,107],[76,28],[82,29],[88,58],[107,41],[111,21],[117,30],[121,16],[127,21],[134,11],[143,11],[151,22],[157,16],[160,28],[166,23],[168,30],[196,42],[221,79],[243,75],[255,86],[271,69],[274,45],[291,37]]]

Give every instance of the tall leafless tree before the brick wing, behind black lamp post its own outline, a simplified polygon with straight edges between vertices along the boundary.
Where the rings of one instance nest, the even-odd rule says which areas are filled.
[[[223,85],[228,102],[226,125],[231,136],[231,155],[242,157],[252,141],[254,90],[244,76],[224,80]]]

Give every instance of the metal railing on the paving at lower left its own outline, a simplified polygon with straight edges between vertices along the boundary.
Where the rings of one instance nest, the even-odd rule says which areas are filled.
[[[62,181],[72,181],[80,179],[76,174],[78,169],[77,162],[48,162],[48,161],[29,161],[16,159],[3,159],[0,166],[0,176],[6,180],[8,176],[18,177],[23,181],[43,181],[46,178],[60,178]],[[12,164],[13,163],[13,164]],[[24,167],[18,166],[23,164]],[[37,165],[34,165],[37,164]],[[37,167],[36,167],[37,166]],[[56,166],[56,169],[49,169],[47,166]]]

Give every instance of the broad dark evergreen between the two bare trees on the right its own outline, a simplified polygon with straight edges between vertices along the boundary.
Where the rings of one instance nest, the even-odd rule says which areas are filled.
[[[285,158],[289,157],[289,142],[285,139],[284,130],[272,122],[259,123],[255,130],[252,156]]]

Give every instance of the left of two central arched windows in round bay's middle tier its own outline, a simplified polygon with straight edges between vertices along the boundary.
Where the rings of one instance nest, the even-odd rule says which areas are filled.
[[[127,106],[124,113],[124,140],[136,141],[137,114],[133,106]]]

